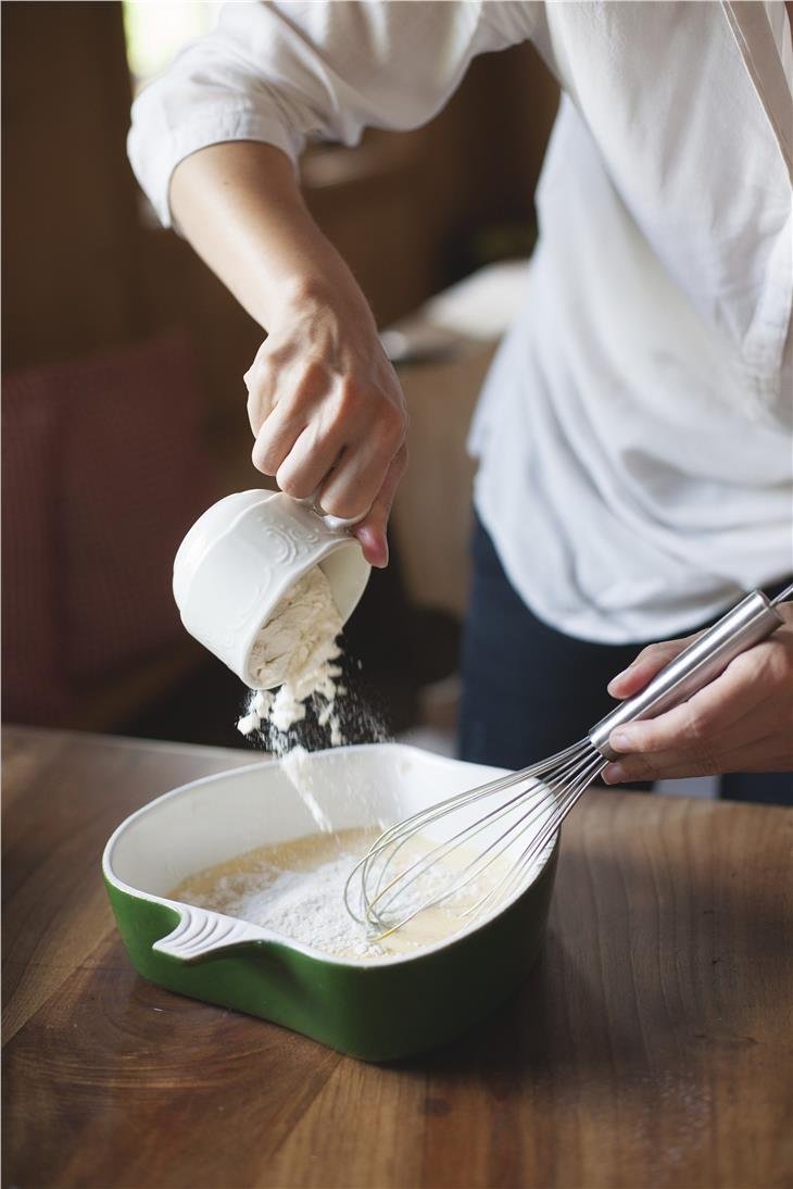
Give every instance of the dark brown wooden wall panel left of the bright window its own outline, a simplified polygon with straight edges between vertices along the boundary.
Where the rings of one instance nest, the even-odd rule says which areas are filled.
[[[4,366],[145,333],[117,4],[2,11]]]

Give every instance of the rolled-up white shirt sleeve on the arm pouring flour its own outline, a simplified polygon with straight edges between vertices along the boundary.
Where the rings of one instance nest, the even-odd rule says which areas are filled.
[[[171,222],[181,161],[225,140],[260,140],[292,162],[307,138],[354,145],[366,126],[418,127],[477,54],[531,36],[540,5],[495,0],[227,4],[136,100],[136,176]]]

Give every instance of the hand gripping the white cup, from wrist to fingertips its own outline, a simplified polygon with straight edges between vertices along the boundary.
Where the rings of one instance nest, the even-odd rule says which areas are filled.
[[[319,489],[333,516],[363,516],[352,531],[366,560],[385,566],[408,414],[363,297],[292,287],[245,384],[253,465],[296,498]]]

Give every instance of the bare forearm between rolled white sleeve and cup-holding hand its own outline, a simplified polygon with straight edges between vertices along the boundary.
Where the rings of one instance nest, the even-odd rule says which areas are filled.
[[[285,302],[327,292],[371,323],[350,269],[306,208],[289,158],[252,140],[210,145],[171,180],[181,231],[240,304],[270,329]]]

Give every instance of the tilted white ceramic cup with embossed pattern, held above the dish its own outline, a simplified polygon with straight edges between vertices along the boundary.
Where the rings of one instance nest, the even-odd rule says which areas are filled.
[[[251,650],[259,629],[298,578],[319,565],[342,622],[371,567],[348,531],[313,501],[283,491],[239,491],[199,517],[174,559],[174,598],[182,623],[245,685],[258,688]],[[272,685],[281,685],[282,674]]]

